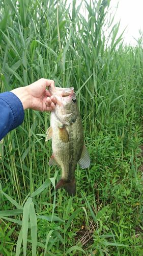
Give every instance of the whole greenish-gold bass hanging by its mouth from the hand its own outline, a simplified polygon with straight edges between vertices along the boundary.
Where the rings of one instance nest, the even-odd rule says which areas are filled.
[[[50,115],[50,127],[46,132],[46,141],[52,140],[49,166],[59,165],[62,168],[62,177],[55,189],[63,187],[69,196],[75,196],[77,163],[82,169],[90,166],[77,99],[73,87],[49,87],[49,92],[56,98],[55,109]]]

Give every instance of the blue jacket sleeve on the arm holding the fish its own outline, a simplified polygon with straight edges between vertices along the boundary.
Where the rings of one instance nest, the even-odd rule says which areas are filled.
[[[12,92],[0,94],[0,140],[23,122],[24,110],[20,99]]]

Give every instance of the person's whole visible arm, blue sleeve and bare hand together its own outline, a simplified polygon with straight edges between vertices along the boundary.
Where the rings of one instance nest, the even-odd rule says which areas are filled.
[[[54,81],[42,78],[0,94],[0,140],[23,122],[25,109],[52,111],[55,108],[56,99],[50,95],[48,86],[54,88]]]

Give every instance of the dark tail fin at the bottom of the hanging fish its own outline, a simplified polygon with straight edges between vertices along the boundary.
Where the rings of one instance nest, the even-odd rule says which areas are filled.
[[[75,178],[70,180],[70,181],[65,181],[61,179],[57,184],[55,189],[57,190],[58,188],[64,187],[69,196],[75,196],[76,193],[76,182]]]

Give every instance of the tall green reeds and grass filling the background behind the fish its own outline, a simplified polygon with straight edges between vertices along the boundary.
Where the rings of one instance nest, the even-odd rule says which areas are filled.
[[[1,92],[45,77],[75,88],[89,169],[55,193],[49,113],[25,111],[0,144],[0,252],[142,255],[142,44],[125,46],[109,1],[0,1]],[[109,38],[105,37],[108,25]],[[108,44],[110,41],[110,45]]]

